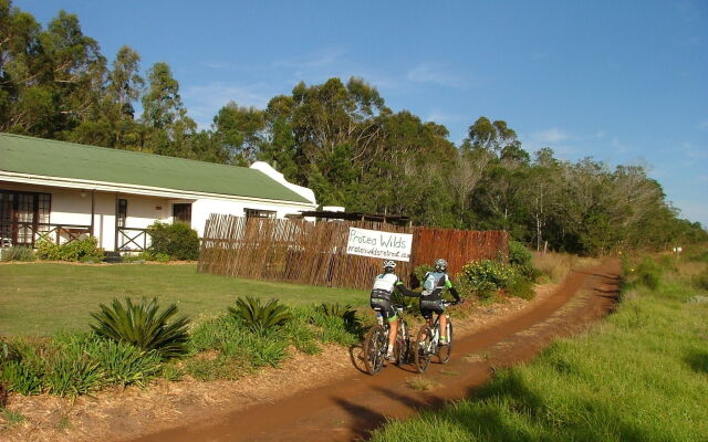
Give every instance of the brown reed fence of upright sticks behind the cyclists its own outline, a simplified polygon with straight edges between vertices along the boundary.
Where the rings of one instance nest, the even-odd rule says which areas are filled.
[[[504,231],[397,227],[369,221],[309,222],[211,214],[205,225],[198,271],[217,275],[331,287],[371,288],[381,259],[346,254],[350,228],[413,233],[410,262],[396,272],[410,282],[413,271],[437,257],[455,275],[462,265],[508,254]]]

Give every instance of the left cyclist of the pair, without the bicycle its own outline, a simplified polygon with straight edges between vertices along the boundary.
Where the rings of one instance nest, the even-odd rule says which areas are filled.
[[[394,273],[395,270],[396,263],[394,261],[384,261],[384,273],[374,278],[374,287],[371,294],[372,308],[379,312],[384,320],[388,320],[388,350],[386,352],[386,359],[389,361],[396,359],[394,356],[394,343],[396,341],[396,334],[398,333],[398,318],[396,317],[396,309],[391,305],[391,296],[396,290],[406,296],[419,296],[418,293],[403,285],[398,275]]]

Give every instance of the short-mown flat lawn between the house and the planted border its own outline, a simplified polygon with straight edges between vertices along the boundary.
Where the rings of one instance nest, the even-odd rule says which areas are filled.
[[[0,335],[51,335],[87,329],[90,312],[114,297],[157,296],[195,318],[225,312],[237,296],[277,297],[287,304],[341,302],[362,305],[356,290],[278,284],[198,274],[196,265],[0,265]]]

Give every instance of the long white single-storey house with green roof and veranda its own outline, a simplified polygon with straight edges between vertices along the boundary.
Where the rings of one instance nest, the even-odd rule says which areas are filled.
[[[94,235],[106,251],[142,250],[155,221],[210,213],[284,218],[316,209],[312,190],[264,162],[250,168],[0,134],[0,241],[33,246]]]

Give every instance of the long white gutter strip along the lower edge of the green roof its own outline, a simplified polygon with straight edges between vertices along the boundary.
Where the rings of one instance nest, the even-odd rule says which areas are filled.
[[[199,199],[209,198],[225,201],[253,201],[264,203],[277,203],[282,206],[292,206],[299,209],[314,208],[317,204],[312,202],[296,202],[287,200],[272,200],[267,198],[254,198],[244,196],[230,196],[221,193],[195,192],[189,190],[175,190],[150,186],[114,183],[106,181],[91,181],[75,178],[46,177],[41,175],[18,173],[0,170],[0,180],[9,180],[13,182],[22,182],[27,185],[51,186],[67,189],[97,190],[104,192],[119,192],[129,194],[142,194],[147,197],[175,198],[175,199]]]

